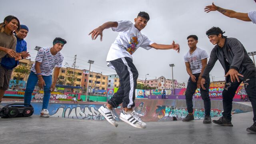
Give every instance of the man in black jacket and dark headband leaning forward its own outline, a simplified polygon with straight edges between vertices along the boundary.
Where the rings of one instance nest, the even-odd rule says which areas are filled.
[[[212,120],[221,126],[233,126],[231,123],[232,100],[240,83],[244,82],[244,88],[252,102],[254,124],[247,128],[248,132],[256,134],[256,68],[242,43],[236,38],[227,38],[218,27],[212,27],[206,32],[210,42],[215,45],[210,54],[210,59],[202,74],[201,87],[204,88],[205,80],[212,70],[215,62],[225,70],[226,84],[222,92],[223,109],[219,120]]]

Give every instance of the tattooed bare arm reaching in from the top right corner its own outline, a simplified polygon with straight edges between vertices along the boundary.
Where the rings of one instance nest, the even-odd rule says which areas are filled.
[[[210,6],[206,6],[204,8],[205,12],[210,12],[210,11],[216,11],[224,14],[225,16],[228,16],[230,18],[237,18],[238,20],[243,20],[246,22],[251,22],[252,20],[249,18],[248,13],[242,13],[242,12],[235,12],[234,10],[228,10],[224,8],[220,8],[219,6],[216,6],[214,3]]]

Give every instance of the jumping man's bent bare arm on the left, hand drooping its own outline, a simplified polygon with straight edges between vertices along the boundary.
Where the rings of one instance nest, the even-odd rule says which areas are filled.
[[[100,35],[100,41],[102,41],[103,30],[107,28],[112,28],[112,27],[116,28],[117,26],[118,26],[117,22],[106,22],[101,26],[99,26],[98,28],[95,28],[94,30],[92,30],[92,32],[90,32],[89,35],[92,34],[92,40],[95,40],[98,37],[98,35]]]

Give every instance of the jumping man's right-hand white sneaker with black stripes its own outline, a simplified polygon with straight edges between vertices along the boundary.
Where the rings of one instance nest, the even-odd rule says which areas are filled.
[[[124,110],[122,110],[120,114],[120,119],[135,128],[146,128],[146,123],[141,120],[135,110],[131,114],[126,114]]]

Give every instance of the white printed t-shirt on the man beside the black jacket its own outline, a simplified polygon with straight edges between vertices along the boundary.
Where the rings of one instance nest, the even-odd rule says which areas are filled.
[[[184,55],[184,61],[189,62],[192,74],[197,74],[202,70],[202,60],[208,57],[209,56],[205,50],[196,47],[196,50],[192,54],[190,54],[188,50]]]

